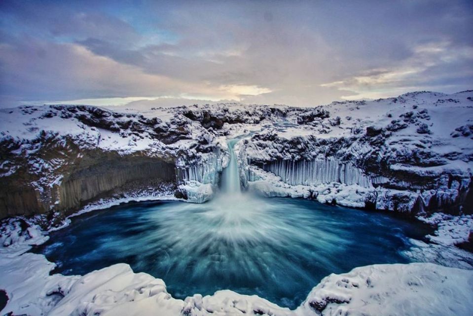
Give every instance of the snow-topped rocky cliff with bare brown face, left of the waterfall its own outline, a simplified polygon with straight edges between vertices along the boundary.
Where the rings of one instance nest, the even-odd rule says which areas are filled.
[[[163,122],[89,106],[44,106],[14,109],[3,119],[0,218],[64,217],[102,197],[176,188],[179,159],[198,164],[215,150],[202,127],[201,137],[191,139],[199,127],[179,115]]]

